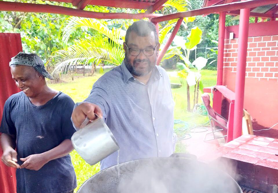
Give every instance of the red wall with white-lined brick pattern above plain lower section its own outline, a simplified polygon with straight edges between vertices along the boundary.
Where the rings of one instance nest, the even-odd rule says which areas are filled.
[[[237,38],[225,39],[223,84],[232,91],[237,47]],[[253,118],[253,129],[270,128],[278,122],[278,31],[277,35],[249,37],[247,52],[244,108]],[[254,134],[277,138],[278,130]]]

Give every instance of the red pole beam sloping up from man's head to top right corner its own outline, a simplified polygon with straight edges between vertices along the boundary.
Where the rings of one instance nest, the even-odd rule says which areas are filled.
[[[278,0],[264,0],[264,1],[246,0],[246,1],[223,4],[223,5],[204,7],[204,8],[185,11],[185,12],[173,13],[173,14],[164,15],[161,17],[152,18],[151,21],[156,23],[156,22],[167,21],[167,20],[171,20],[171,19],[192,17],[192,16],[196,16],[196,15],[204,15],[204,14],[210,14],[210,13],[219,13],[219,12],[224,12],[224,11],[233,11],[233,10],[239,10],[242,8],[253,8],[253,7],[259,7],[259,6],[264,6],[264,5],[274,4],[274,3],[278,3]]]

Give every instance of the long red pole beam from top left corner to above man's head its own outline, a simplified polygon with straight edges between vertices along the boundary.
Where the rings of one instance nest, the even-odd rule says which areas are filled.
[[[0,11],[18,11],[18,12],[34,12],[34,13],[55,13],[61,15],[70,15],[76,17],[86,17],[95,19],[142,19],[161,16],[161,14],[146,14],[146,13],[102,13],[85,11],[63,6],[34,4],[34,3],[19,3],[0,1]]]

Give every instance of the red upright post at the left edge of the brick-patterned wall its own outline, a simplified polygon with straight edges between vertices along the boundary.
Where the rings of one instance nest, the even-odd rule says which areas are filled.
[[[225,21],[226,13],[219,14],[219,30],[218,30],[218,56],[217,56],[217,83],[222,85],[223,82],[223,62],[224,62],[224,39],[225,39]]]

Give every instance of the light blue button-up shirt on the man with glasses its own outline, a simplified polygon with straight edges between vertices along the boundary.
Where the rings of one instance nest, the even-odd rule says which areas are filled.
[[[174,102],[169,77],[162,67],[153,68],[145,85],[132,76],[123,62],[95,82],[84,102],[101,108],[120,147],[119,163],[173,153]],[[115,152],[103,159],[100,169],[116,165],[117,158]]]

